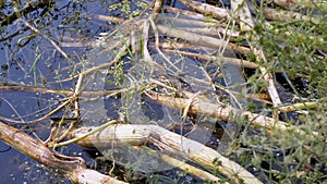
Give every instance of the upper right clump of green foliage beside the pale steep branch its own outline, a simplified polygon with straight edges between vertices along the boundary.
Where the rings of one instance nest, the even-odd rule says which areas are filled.
[[[257,32],[271,66],[276,64],[277,69],[284,70],[292,81],[306,79],[308,94],[316,98],[327,95],[326,22],[325,17],[319,24],[308,21],[271,23],[269,28],[262,26],[265,32]]]

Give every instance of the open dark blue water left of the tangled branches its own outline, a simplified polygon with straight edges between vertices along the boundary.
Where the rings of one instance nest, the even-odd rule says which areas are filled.
[[[65,78],[78,71],[84,48],[63,48],[71,57],[72,62],[62,57],[46,37],[51,37],[59,45],[61,42],[88,42],[99,33],[107,32],[112,25],[97,19],[87,19],[88,14],[110,14],[104,9],[111,1],[73,2],[59,0],[51,4],[24,5],[27,1],[15,4],[12,1],[1,1],[0,8],[0,83],[2,85],[43,86],[53,89],[72,89],[74,83],[55,83],[59,77]],[[20,19],[14,17],[14,8],[22,11]],[[23,11],[24,10],[24,11]],[[17,13],[19,14],[19,13]],[[10,20],[8,17],[12,17]],[[23,22],[37,27],[43,36],[35,37],[33,32]],[[1,120],[9,124],[7,119],[25,121],[45,115],[52,106],[56,107],[57,95],[44,95],[34,91],[0,91]],[[60,115],[58,113],[57,115]],[[40,138],[46,139],[50,128],[50,120],[25,126],[17,123],[20,128],[31,130]],[[29,131],[28,131],[29,130]],[[81,152],[78,147],[64,149],[71,156],[89,158]],[[3,184],[11,183],[70,183],[58,176],[56,171],[45,169],[41,164],[26,158],[24,155],[0,142],[0,179]]]

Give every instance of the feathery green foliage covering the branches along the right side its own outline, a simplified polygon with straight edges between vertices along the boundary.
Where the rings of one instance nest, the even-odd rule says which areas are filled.
[[[259,11],[263,11],[262,4]],[[268,63],[257,61],[253,53],[246,59],[268,69],[269,72],[283,71],[291,83],[306,81],[305,91],[308,98],[327,96],[327,20],[269,22],[266,24],[264,13],[256,12],[254,33],[259,36],[258,45],[263,47]],[[235,39],[239,42],[241,38]],[[263,74],[257,70],[246,85],[252,91],[261,93],[267,83],[258,79]],[[298,94],[294,88],[287,89]],[[296,90],[302,90],[298,88]],[[269,107],[265,107],[269,108]],[[257,110],[257,105],[247,102],[247,110]],[[264,113],[264,109],[262,109]],[[270,110],[266,110],[270,111]],[[307,114],[288,116],[288,123],[295,130],[271,131],[249,127],[244,121],[243,132],[230,145],[228,156],[238,160],[243,167],[267,183],[322,183],[326,181],[327,167],[327,101],[322,100],[318,108]],[[290,120],[291,119],[291,120]],[[256,130],[256,131],[254,131]]]

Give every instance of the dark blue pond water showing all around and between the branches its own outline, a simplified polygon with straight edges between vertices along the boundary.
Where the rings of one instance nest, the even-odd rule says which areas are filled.
[[[58,0],[51,3],[37,3],[28,5],[27,0],[22,0],[17,4],[13,1],[1,1],[0,0],[0,86],[12,86],[12,85],[24,85],[24,86],[35,86],[43,87],[49,89],[65,89],[72,91],[75,87],[76,79],[73,81],[62,81],[64,78],[69,78],[77,74],[80,71],[85,70],[86,65],[97,64],[95,62],[89,62],[85,59],[106,59],[106,57],[110,57],[109,53],[104,56],[97,56],[98,50],[93,50],[89,47],[90,42],[94,42],[99,38],[102,33],[110,32],[114,29],[117,26],[111,24],[105,20],[99,19],[96,15],[113,15],[121,16],[123,20],[129,19],[129,13],[131,10],[141,10],[144,4],[149,1],[137,1],[133,0],[132,4],[125,5],[122,2],[126,1],[116,1],[116,0],[101,0],[101,1],[93,1],[93,0]],[[203,0],[201,2],[204,2]],[[208,0],[208,3],[216,3],[216,1]],[[223,3],[227,8],[229,4],[228,0],[219,1]],[[257,1],[256,1],[257,2]],[[166,1],[167,4],[175,5],[178,8],[186,9],[179,2],[174,1]],[[114,7],[116,5],[116,7]],[[120,9],[119,11],[117,9]],[[17,11],[19,10],[19,11]],[[15,12],[16,11],[16,12]],[[162,21],[164,22],[164,21]],[[29,26],[29,27],[28,27]],[[35,32],[31,30],[31,26],[36,27],[40,33],[38,35]],[[51,42],[51,41],[55,41]],[[153,41],[153,40],[152,40]],[[62,48],[63,52],[69,56],[69,59],[65,58],[60,50],[58,50],[53,45],[58,45]],[[108,44],[110,45],[110,42]],[[95,56],[93,56],[93,53]],[[153,51],[153,53],[158,54]],[[130,57],[130,58],[129,58]],[[137,69],[137,65],[132,68],[134,64],[131,56],[124,58],[123,70],[129,69],[129,72],[134,76],[140,75],[140,73],[144,72]],[[178,59],[174,59],[178,60]],[[156,61],[160,64],[167,64],[165,61]],[[189,64],[181,62],[181,68],[184,64],[187,66],[187,72],[192,71],[193,76],[201,75],[201,71],[198,68],[194,68],[197,64],[196,60],[187,60]],[[191,63],[191,64],[190,64]],[[196,65],[197,66],[197,65]],[[132,70],[130,70],[132,69]],[[192,78],[182,77],[185,74],[185,71],[181,70],[179,75],[171,75],[172,73],[178,73],[174,71],[175,69],[171,68],[170,71],[165,71],[167,78],[171,81],[179,81],[179,83],[184,82],[184,88],[193,89],[194,91],[202,90],[201,85],[192,84],[194,81]],[[216,65],[209,65],[207,70],[217,70]],[[233,71],[234,69],[229,69]],[[191,73],[191,72],[190,72]],[[238,73],[238,71],[233,71],[231,73]],[[255,73],[255,71],[249,71],[245,73]],[[144,74],[144,73],[142,73]],[[106,79],[110,82],[117,82],[114,76],[110,74],[105,74]],[[142,77],[149,75],[148,71],[145,72]],[[223,74],[225,75],[225,74]],[[250,74],[249,74],[250,75]],[[155,75],[153,75],[155,76]],[[237,75],[239,76],[239,74]],[[180,78],[178,78],[180,77]],[[199,76],[202,77],[202,76]],[[278,75],[278,81],[283,81],[284,77]],[[129,79],[133,79],[133,76]],[[141,78],[141,77],[140,77]],[[140,78],[134,78],[141,81]],[[218,78],[218,77],[217,77]],[[120,78],[121,79],[121,78]],[[189,81],[187,81],[189,79]],[[193,78],[194,79],[194,78]],[[235,78],[234,78],[235,79]],[[239,79],[239,81],[238,81]],[[244,83],[243,77],[239,77],[234,83],[240,84]],[[130,83],[121,79],[122,86],[130,86]],[[124,83],[125,82],[125,83]],[[216,81],[215,81],[216,82]],[[225,78],[220,78],[219,82],[222,85],[226,85],[228,82]],[[301,82],[300,82],[301,83]],[[302,83],[301,83],[302,84]],[[97,84],[90,84],[90,86],[96,86]],[[299,88],[305,89],[306,83],[300,85]],[[100,87],[105,87],[106,89],[111,89],[117,87],[118,84],[106,83]],[[287,85],[284,85],[287,86]],[[87,85],[84,86],[87,88]],[[296,86],[298,87],[298,86]],[[93,88],[96,89],[96,88]],[[160,90],[160,89],[159,89]],[[287,91],[282,89],[283,91]],[[283,93],[282,91],[282,93]],[[305,95],[305,93],[303,93]],[[290,99],[293,96],[282,96],[282,101],[290,102]],[[5,90],[3,88],[0,89],[0,120],[8,124],[11,124],[20,130],[24,130],[27,134],[35,136],[37,135],[43,140],[48,138],[51,125],[53,124],[55,119],[60,119],[63,114],[68,114],[70,108],[63,109],[56,114],[47,118],[39,123],[27,123],[28,121],[39,119],[46,115],[50,110],[58,107],[60,103],[58,100],[62,99],[63,96],[57,94],[44,94],[39,91],[34,91],[31,89],[11,89]],[[121,97],[125,101],[132,101],[129,97]],[[162,106],[156,105],[150,101],[148,98],[143,96],[137,96],[136,102],[131,106],[136,106],[141,103],[143,106],[136,106],[136,108],[142,109],[141,111],[130,111],[132,116],[135,118],[135,121],[138,119],[149,119],[150,121],[156,121],[158,124],[162,123],[162,120],[169,121],[178,121],[181,116],[180,111],[173,111],[170,109],[165,109]],[[123,100],[117,100],[113,98],[109,98],[104,100],[105,105],[101,105],[105,110],[100,111],[105,113],[104,119],[114,118],[120,119],[120,110],[117,106],[122,103]],[[104,102],[102,101],[102,102]],[[231,100],[232,101],[232,100]],[[228,101],[230,102],[230,101]],[[242,101],[241,101],[242,103]],[[245,106],[246,102],[240,105],[240,107]],[[135,109],[136,109],[135,108]],[[261,112],[262,109],[266,108],[265,106],[257,106],[257,112]],[[84,109],[85,110],[85,109]],[[87,109],[86,109],[87,110]],[[97,109],[89,109],[89,111],[97,111]],[[113,112],[114,113],[110,113]],[[142,112],[142,114],[138,114]],[[269,113],[269,112],[267,112]],[[290,113],[291,114],[291,113]],[[167,118],[168,115],[168,118]],[[201,116],[201,115],[198,115]],[[199,119],[198,116],[194,116],[194,119]],[[89,121],[88,123],[94,123],[90,121],[93,119],[92,115],[84,115],[83,120]],[[125,116],[124,116],[125,118]],[[298,119],[296,115],[281,115],[281,119],[290,120]],[[148,120],[148,121],[149,121]],[[97,121],[94,119],[94,121]],[[203,122],[217,122],[217,120],[207,120],[202,119]],[[190,121],[191,122],[191,121]],[[192,122],[190,123],[192,124]],[[217,126],[221,130],[220,126],[225,128],[228,127],[228,123],[220,122],[220,125],[211,124],[209,127],[211,130],[216,130]],[[85,123],[85,122],[84,122]],[[99,122],[98,122],[99,123]],[[301,122],[302,123],[302,122]],[[87,123],[86,123],[87,124]],[[160,124],[166,126],[167,124]],[[231,127],[234,128],[234,127]],[[178,132],[178,131],[177,131]],[[191,131],[190,131],[191,132]],[[182,134],[182,131],[179,132]],[[183,133],[184,135],[187,134]],[[198,132],[203,133],[204,132]],[[250,132],[252,134],[252,132]],[[254,132],[253,134],[256,134]],[[192,138],[196,139],[199,134],[191,134]],[[208,135],[209,142],[213,140],[211,147],[217,148],[218,140],[217,137],[221,137],[221,132],[217,131],[213,134]],[[279,149],[279,148],[278,148]],[[96,164],[94,158],[99,156],[99,151],[95,149],[82,149],[77,146],[69,146],[62,147],[58,149],[64,155],[69,156],[78,156],[86,160],[87,165],[90,168],[96,168],[99,171],[108,172],[111,163],[108,161],[104,161],[104,164]],[[219,149],[218,149],[219,150]],[[245,152],[245,151],[244,151]],[[275,154],[275,152],[272,152]],[[279,154],[279,152],[278,152]],[[235,156],[237,157],[237,156]],[[241,157],[240,157],[241,158]],[[247,158],[249,159],[249,158]],[[280,160],[282,160],[281,158]],[[250,161],[246,161],[246,164]],[[98,162],[97,162],[98,163]],[[250,165],[250,163],[249,163]],[[276,164],[271,164],[276,167]],[[270,167],[270,165],[268,165]],[[266,167],[266,169],[268,168]],[[279,167],[279,165],[278,165]],[[281,170],[280,168],[277,170]],[[109,169],[108,169],[109,168]],[[264,168],[264,167],[263,167]],[[126,176],[129,173],[121,173]],[[155,173],[150,179],[144,179],[142,174],[135,174],[134,177],[137,182],[148,182],[148,183],[203,183],[203,181],[192,177],[190,175],[183,175],[181,171],[177,169],[169,170],[162,173]],[[122,177],[123,177],[122,176]],[[24,155],[9,147],[4,143],[0,142],[0,179],[3,184],[11,183],[71,183],[69,180],[63,179],[58,174],[57,171],[49,170],[44,168],[41,164],[36,161],[26,158]],[[265,179],[264,179],[265,180]]]

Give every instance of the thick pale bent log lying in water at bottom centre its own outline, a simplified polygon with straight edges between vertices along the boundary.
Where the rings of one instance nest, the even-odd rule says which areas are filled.
[[[82,137],[93,128],[97,127],[76,128],[71,133],[71,137]],[[111,125],[80,139],[76,144],[83,147],[111,147],[112,144],[114,146],[142,146],[147,142],[162,150],[183,156],[209,169],[218,169],[220,173],[227,175],[233,182],[262,183],[244,168],[221,156],[216,150],[157,125]],[[215,165],[215,161],[221,164]]]

